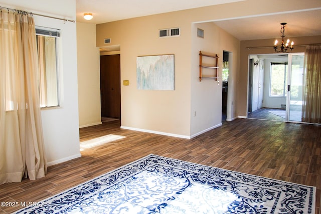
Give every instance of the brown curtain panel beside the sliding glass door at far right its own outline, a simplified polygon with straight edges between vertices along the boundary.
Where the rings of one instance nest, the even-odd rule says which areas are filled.
[[[304,76],[302,122],[321,123],[321,45],[306,47]]]

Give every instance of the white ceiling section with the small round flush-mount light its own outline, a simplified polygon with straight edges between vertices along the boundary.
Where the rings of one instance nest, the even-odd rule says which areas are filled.
[[[76,0],[77,22],[84,13],[92,13],[90,23],[101,24],[191,8],[242,2],[245,0]]]

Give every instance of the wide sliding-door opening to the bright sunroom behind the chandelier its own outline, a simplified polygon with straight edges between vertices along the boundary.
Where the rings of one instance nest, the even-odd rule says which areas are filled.
[[[248,118],[300,122],[303,64],[303,53],[249,56]]]

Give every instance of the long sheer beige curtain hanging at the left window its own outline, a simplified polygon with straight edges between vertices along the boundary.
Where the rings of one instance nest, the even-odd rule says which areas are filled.
[[[25,13],[0,17],[0,184],[46,174],[39,103],[34,20]]]

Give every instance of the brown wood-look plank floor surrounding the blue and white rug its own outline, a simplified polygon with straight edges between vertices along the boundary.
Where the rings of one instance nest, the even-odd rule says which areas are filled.
[[[120,121],[80,129],[82,157],[48,167],[46,177],[0,185],[0,201],[33,202],[153,153],[317,187],[320,213],[321,126],[236,119],[193,139],[120,129]],[[93,138],[110,141],[93,146]],[[0,207],[10,213],[20,206]]]

